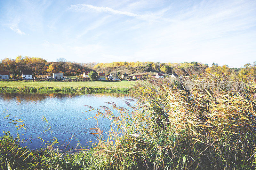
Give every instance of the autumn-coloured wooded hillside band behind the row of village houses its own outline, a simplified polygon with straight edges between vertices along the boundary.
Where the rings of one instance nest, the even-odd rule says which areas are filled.
[[[65,76],[76,76],[84,71],[104,72],[108,75],[113,73],[141,73],[144,76],[150,76],[151,72],[160,72],[166,74],[177,74],[186,76],[191,70],[205,70],[216,76],[224,75],[232,80],[255,80],[256,62],[245,64],[241,68],[229,68],[228,65],[219,66],[217,63],[212,63],[209,66],[207,63],[200,62],[185,62],[185,63],[159,63],[159,62],[112,62],[112,63],[76,63],[67,62],[64,58],[57,59],[56,62],[47,62],[40,57],[17,56],[16,59],[5,58],[0,62],[0,70],[7,70],[11,74],[21,74],[22,69],[33,70],[34,76],[51,75],[53,72],[63,73]]]

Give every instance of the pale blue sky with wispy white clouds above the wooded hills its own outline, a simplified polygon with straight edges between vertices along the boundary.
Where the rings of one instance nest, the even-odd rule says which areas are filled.
[[[0,59],[256,61],[256,1],[0,1]]]

